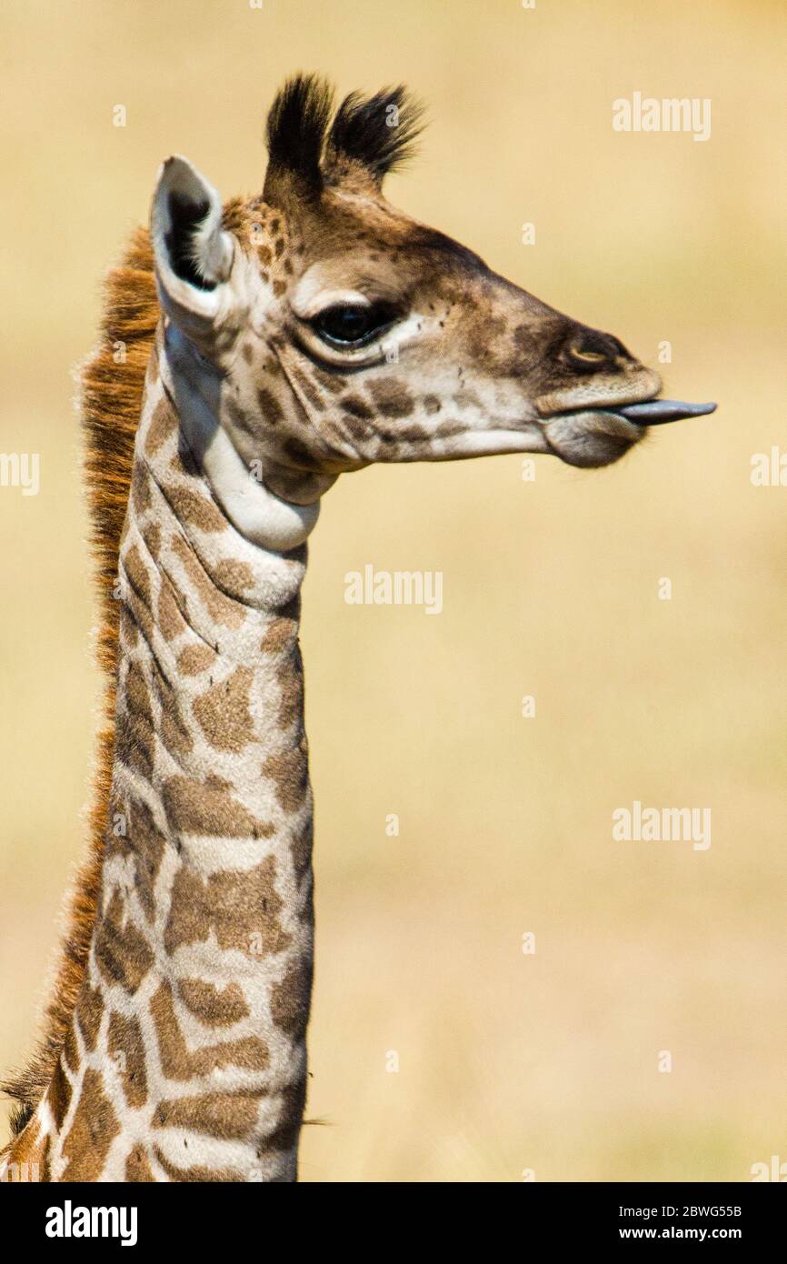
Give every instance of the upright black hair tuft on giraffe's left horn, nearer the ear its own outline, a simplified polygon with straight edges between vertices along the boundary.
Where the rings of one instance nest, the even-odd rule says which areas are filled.
[[[268,115],[269,169],[288,171],[306,186],[322,185],[320,162],[333,106],[333,90],[320,75],[296,75]]]

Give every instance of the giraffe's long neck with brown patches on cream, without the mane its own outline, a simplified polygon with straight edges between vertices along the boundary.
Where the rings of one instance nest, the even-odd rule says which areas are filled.
[[[120,550],[100,913],[39,1124],[56,1181],[292,1181],[313,952],[306,545],[265,547],[264,514],[256,542],[229,521],[198,439],[210,389],[198,415],[173,360],[159,331]],[[277,542],[302,541],[309,516],[274,502]]]

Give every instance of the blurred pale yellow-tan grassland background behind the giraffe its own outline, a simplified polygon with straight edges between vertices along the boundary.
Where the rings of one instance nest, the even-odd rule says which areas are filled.
[[[83,847],[99,680],[69,374],[102,273],[169,153],[259,191],[285,75],[404,80],[431,124],[389,198],[720,407],[606,470],[392,466],[326,497],[302,636],[326,1126],[302,1178],[787,1160],[787,488],[750,482],[787,450],[783,6],[5,0],[1,24],[0,450],[40,454],[40,493],[0,488],[0,1064],[34,1039]],[[710,139],[614,131],[635,91],[709,97]],[[442,614],[345,604],[365,564],[442,571]],[[710,808],[711,847],[614,842],[635,799]]]

